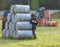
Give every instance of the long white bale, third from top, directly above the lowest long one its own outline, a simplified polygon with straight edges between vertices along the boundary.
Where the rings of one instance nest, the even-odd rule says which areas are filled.
[[[32,24],[30,22],[17,22],[16,30],[31,30]]]

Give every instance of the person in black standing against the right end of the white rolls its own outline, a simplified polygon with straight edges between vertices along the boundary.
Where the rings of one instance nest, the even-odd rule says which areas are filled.
[[[36,16],[34,14],[31,15],[32,19],[30,20],[30,23],[32,24],[32,32],[33,32],[33,37],[34,39],[37,39],[37,36],[35,34],[35,30],[36,30],[36,26],[37,26],[37,19]]]

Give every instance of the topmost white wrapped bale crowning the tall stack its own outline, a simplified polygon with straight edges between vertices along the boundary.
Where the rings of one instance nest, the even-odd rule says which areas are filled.
[[[29,13],[30,6],[29,5],[13,5],[11,7],[11,12],[14,10],[14,13]]]

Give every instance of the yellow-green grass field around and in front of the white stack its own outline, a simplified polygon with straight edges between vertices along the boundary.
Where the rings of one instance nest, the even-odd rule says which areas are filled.
[[[37,39],[7,39],[2,38],[0,20],[0,47],[60,47],[60,19],[52,19],[59,22],[58,27],[37,27]]]

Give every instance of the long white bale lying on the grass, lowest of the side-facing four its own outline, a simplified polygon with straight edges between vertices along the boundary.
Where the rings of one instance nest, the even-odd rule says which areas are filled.
[[[16,31],[16,38],[32,38],[32,30],[17,30]]]

